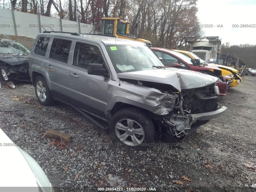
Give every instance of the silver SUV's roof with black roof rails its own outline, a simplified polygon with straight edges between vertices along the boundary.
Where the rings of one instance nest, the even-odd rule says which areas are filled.
[[[72,38],[76,40],[85,40],[86,38],[89,38],[90,40],[93,40],[95,42],[101,41],[104,44],[129,44],[129,45],[145,45],[143,42],[134,41],[134,40],[128,40],[128,39],[122,39],[122,38],[116,38],[114,36],[106,36],[106,35],[99,35],[99,34],[65,34],[60,32],[44,32],[38,34],[39,36],[58,36],[58,37],[64,37],[64,38]]]

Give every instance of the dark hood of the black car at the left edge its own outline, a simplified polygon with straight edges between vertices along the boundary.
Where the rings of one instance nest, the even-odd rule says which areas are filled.
[[[28,54],[0,54],[0,61],[11,66],[20,65],[28,62]]]

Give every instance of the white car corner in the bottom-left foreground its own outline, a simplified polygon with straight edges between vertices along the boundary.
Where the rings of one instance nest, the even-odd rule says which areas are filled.
[[[54,192],[38,163],[0,129],[0,188],[4,192]],[[21,188],[22,187],[22,188]]]

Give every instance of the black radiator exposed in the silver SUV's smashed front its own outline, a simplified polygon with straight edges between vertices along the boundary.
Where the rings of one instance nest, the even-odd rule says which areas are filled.
[[[191,101],[191,114],[206,113],[216,110],[218,107],[218,98],[202,99]]]

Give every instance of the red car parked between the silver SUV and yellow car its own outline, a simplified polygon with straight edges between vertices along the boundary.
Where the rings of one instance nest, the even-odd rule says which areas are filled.
[[[218,77],[216,83],[220,90],[220,96],[225,96],[227,94],[229,85],[228,81],[226,82],[226,80],[230,77],[221,76],[220,68],[216,66],[207,66],[205,64],[200,64],[200,61],[191,60],[183,54],[172,51],[170,49],[152,47],[152,50],[159,58],[162,58],[162,62],[166,67],[182,68]]]

